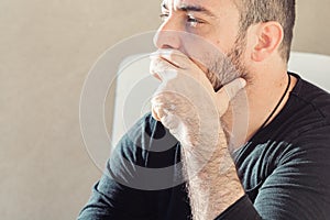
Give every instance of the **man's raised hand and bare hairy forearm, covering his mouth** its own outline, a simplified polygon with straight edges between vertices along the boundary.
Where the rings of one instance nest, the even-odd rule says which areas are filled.
[[[213,219],[244,195],[220,118],[245,80],[215,92],[202,67],[183,53],[160,51],[151,59],[151,73],[162,80],[152,99],[153,117],[183,146],[194,219]],[[224,173],[223,163],[230,163]]]

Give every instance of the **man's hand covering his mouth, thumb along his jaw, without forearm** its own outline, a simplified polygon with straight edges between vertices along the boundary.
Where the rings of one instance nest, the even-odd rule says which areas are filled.
[[[151,58],[151,73],[162,80],[152,99],[153,117],[183,145],[218,144],[220,118],[244,87],[244,79],[235,79],[215,92],[206,73],[183,53],[163,50]]]

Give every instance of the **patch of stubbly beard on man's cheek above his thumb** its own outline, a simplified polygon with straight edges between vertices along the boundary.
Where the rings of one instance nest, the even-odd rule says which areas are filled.
[[[229,53],[219,54],[216,59],[209,63],[206,76],[212,84],[215,91],[237,78],[248,80],[248,69],[243,63],[244,38],[244,36],[238,37]]]

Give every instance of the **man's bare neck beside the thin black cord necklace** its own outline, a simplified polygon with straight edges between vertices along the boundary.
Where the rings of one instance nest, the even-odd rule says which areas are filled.
[[[265,73],[253,76],[251,79],[253,82],[248,81],[245,90],[240,92],[232,101],[232,111],[228,111],[222,118],[222,121],[231,131],[229,133],[234,133],[234,139],[230,141],[231,147],[242,146],[262,127],[271,123],[286,105],[289,91],[296,85],[296,78],[290,76],[290,84],[287,89],[286,67],[275,73]],[[279,105],[276,108],[277,103]]]

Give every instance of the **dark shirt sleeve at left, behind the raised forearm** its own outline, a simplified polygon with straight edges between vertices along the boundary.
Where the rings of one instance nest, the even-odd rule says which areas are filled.
[[[168,177],[176,170],[170,168],[176,144],[161,123],[151,114],[144,116],[111,152],[78,220],[157,219],[157,195],[170,187],[173,179]]]

